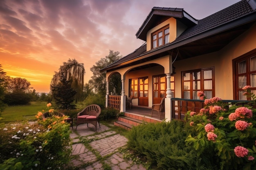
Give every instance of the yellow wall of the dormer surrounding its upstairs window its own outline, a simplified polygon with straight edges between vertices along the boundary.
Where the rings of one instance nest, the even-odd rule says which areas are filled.
[[[176,39],[176,37],[177,37],[176,20],[175,20],[175,18],[170,18],[148,31],[148,33],[147,33],[147,51],[151,50],[151,46],[152,46],[151,45],[151,34],[155,31],[163,28],[164,26],[166,26],[168,24],[169,24],[169,30],[170,30],[169,42],[173,42]]]

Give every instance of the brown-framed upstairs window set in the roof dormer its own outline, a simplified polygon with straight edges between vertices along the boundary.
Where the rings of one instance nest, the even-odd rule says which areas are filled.
[[[152,49],[169,43],[169,26],[165,26],[152,34]]]

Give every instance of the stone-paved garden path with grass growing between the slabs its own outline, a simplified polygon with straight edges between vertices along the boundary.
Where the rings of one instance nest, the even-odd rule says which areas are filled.
[[[123,158],[120,148],[127,144],[126,137],[101,124],[97,133],[92,124],[81,124],[72,130],[72,161],[76,170],[146,170],[142,165]]]

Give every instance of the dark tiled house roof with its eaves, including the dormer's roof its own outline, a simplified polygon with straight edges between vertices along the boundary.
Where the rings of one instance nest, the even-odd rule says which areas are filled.
[[[144,44],[117,62],[101,69],[101,71],[111,71],[117,68],[129,66],[132,63],[137,64],[143,61],[153,60],[157,57],[168,55],[170,50],[175,49],[176,53],[177,49],[179,49],[179,53],[183,53],[184,56],[188,57],[220,50],[235,37],[247,30],[250,24],[255,23],[255,9],[256,0],[241,0],[240,2],[237,2],[236,4],[233,4],[230,7],[218,11],[206,18],[203,18],[202,20],[196,20],[196,23],[195,19],[187,14],[183,9],[153,7],[152,11],[139,28],[139,31],[136,33],[137,36],[142,35],[142,29],[148,29],[147,26],[150,24],[150,18],[153,17],[152,13],[154,13],[155,10],[158,10],[158,13],[159,10],[164,10],[165,14],[166,11],[168,11],[167,17],[169,18],[173,17],[174,15],[176,18],[178,18],[181,16],[181,13],[186,14],[186,19],[183,21],[186,22],[186,24],[188,24],[190,27],[173,42],[159,46],[158,48],[150,51],[146,51],[146,44]],[[170,14],[170,12],[172,14]],[[155,17],[153,20],[156,19]],[[163,18],[162,15],[159,17],[162,19],[161,21],[166,19]],[[202,48],[202,44],[205,45],[204,48]],[[198,46],[198,49],[195,48],[196,46]]]

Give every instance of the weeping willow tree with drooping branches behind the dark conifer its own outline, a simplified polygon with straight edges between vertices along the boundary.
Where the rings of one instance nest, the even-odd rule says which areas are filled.
[[[51,92],[53,93],[53,87],[59,86],[63,78],[71,83],[71,88],[76,91],[74,95],[75,102],[82,101],[83,97],[83,84],[84,84],[85,68],[83,63],[78,63],[75,59],[63,62],[63,66],[60,66],[59,72],[55,72],[51,82]],[[63,94],[65,95],[65,94]]]

